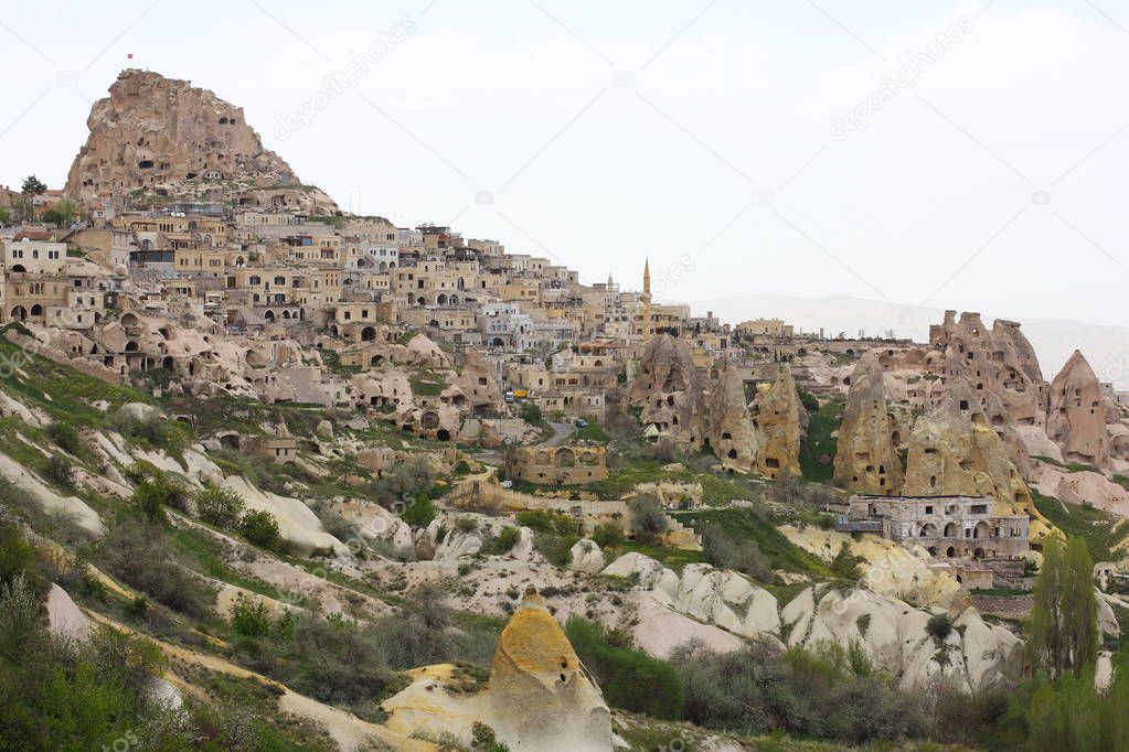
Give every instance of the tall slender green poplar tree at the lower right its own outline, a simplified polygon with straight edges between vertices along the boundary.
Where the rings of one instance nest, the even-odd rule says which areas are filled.
[[[1051,682],[1067,672],[1080,676],[1097,658],[1094,563],[1082,538],[1048,541],[1027,632],[1031,665]]]

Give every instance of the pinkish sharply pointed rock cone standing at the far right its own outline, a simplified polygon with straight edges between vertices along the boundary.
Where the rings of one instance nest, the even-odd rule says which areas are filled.
[[[1110,462],[1108,406],[1094,370],[1077,350],[1051,382],[1047,435],[1067,462],[1105,468]]]

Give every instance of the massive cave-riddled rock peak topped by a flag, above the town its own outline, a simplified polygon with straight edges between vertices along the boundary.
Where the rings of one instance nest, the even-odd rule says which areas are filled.
[[[243,108],[151,71],[122,71],[110,96],[94,104],[87,126],[90,135],[65,189],[80,202],[138,188],[178,196],[301,183],[281,157],[263,148]],[[183,185],[190,182],[193,189]],[[305,193],[312,204],[333,203],[320,191]]]

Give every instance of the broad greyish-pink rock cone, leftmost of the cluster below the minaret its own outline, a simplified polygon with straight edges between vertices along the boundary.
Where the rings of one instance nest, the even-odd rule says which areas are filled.
[[[640,419],[651,437],[699,449],[704,436],[704,398],[698,368],[684,339],[655,335],[644,352],[639,375],[631,384],[630,404],[641,407]]]

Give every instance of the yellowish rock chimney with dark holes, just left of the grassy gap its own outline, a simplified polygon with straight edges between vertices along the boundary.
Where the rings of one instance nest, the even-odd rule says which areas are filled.
[[[759,451],[756,469],[765,478],[781,472],[799,477],[799,444],[807,426],[807,410],[799,404],[791,369],[780,366],[776,381],[760,384],[750,408]]]

